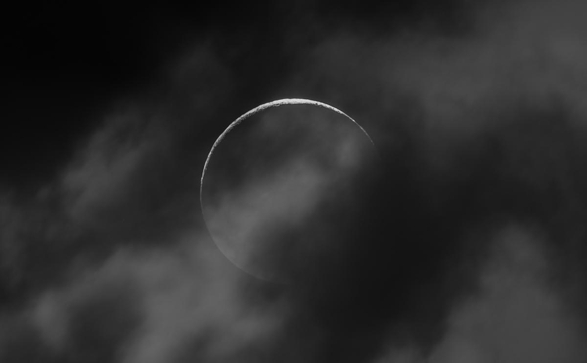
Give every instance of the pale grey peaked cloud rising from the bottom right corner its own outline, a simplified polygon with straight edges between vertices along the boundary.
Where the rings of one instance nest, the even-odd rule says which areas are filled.
[[[552,284],[545,236],[507,225],[495,232],[479,290],[456,304],[429,352],[394,346],[377,362],[582,362],[585,329]]]

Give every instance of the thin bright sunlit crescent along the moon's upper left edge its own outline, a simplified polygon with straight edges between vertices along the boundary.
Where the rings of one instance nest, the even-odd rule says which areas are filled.
[[[365,131],[365,129],[363,127],[361,127],[361,125],[359,125],[355,120],[353,120],[352,117],[350,117],[348,114],[344,113],[343,111],[339,110],[338,108],[330,106],[329,104],[326,104],[326,103],[323,103],[320,101],[307,100],[307,99],[281,99],[281,100],[275,100],[275,101],[261,104],[255,108],[253,108],[252,110],[249,110],[248,112],[246,112],[246,113],[242,114],[240,117],[238,117],[236,120],[232,121],[232,123],[230,125],[228,125],[226,130],[224,130],[224,132],[222,134],[220,134],[220,136],[218,136],[216,141],[214,141],[214,145],[212,145],[210,152],[208,152],[208,157],[206,158],[206,161],[204,163],[204,168],[202,170],[202,177],[200,179],[200,208],[201,208],[201,212],[202,212],[202,215],[204,218],[204,223],[206,225],[206,228],[208,229],[208,232],[210,232],[210,225],[208,225],[208,222],[206,222],[206,219],[204,216],[203,188],[204,188],[204,177],[206,175],[206,170],[208,169],[208,164],[210,164],[210,160],[212,158],[212,155],[214,154],[214,151],[216,150],[218,145],[220,145],[221,141],[224,140],[226,135],[228,133],[230,133],[230,131],[232,131],[239,124],[241,124],[242,121],[253,116],[254,114],[257,114],[263,110],[266,110],[267,108],[279,107],[279,106],[290,105],[290,104],[307,104],[307,105],[311,105],[311,106],[318,106],[318,107],[326,108],[327,110],[330,110],[330,111],[334,111],[342,116],[345,116],[346,118],[348,118],[348,120],[352,121],[352,123],[354,123],[357,127],[359,127],[359,129],[362,131],[362,133],[365,134],[367,139],[369,139],[369,142],[375,148],[375,143],[373,143],[373,140],[369,136],[369,134],[367,134],[367,131]],[[212,236],[212,240],[213,239],[214,238]],[[218,245],[218,243],[216,243],[216,242],[215,242],[215,244]]]

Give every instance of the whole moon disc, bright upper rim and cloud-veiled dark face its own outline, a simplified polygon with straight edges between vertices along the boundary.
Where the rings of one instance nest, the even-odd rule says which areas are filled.
[[[240,269],[299,280],[336,259],[376,158],[366,131],[338,108],[304,99],[262,104],[232,122],[208,154],[205,223]]]

